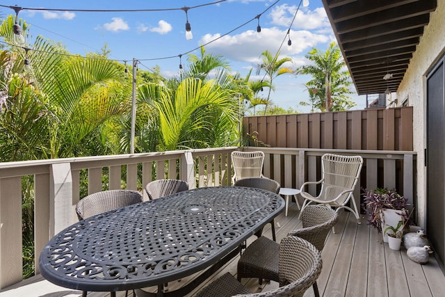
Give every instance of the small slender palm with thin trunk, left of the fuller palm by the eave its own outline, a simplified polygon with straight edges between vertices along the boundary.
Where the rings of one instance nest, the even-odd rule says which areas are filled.
[[[275,90],[275,86],[273,85],[273,79],[275,79],[275,77],[278,77],[285,73],[293,73],[293,70],[291,70],[291,68],[283,67],[284,63],[292,62],[292,59],[289,57],[286,57],[286,58],[282,58],[282,59],[278,60],[278,58],[280,56],[280,51],[278,51],[275,56],[272,56],[272,54],[270,54],[270,51],[266,50],[266,51],[263,51],[261,56],[263,57],[263,61],[258,65],[257,75],[260,74],[261,70],[264,70],[266,72],[266,75],[268,77],[268,83],[269,83],[269,92],[267,95],[267,101],[269,102],[270,101],[270,92],[271,92],[271,90]],[[264,108],[265,114],[266,114],[267,106],[268,105],[266,105],[266,107]]]

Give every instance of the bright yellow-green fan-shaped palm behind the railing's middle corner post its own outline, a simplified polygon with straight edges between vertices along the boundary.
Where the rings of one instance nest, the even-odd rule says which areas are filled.
[[[227,138],[236,122],[232,91],[220,88],[216,81],[204,83],[188,78],[181,81],[174,98],[169,94],[172,93],[162,93],[155,102],[165,150],[227,145],[227,141],[233,141]]]

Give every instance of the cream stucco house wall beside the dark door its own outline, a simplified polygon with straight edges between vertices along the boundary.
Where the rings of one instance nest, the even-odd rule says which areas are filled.
[[[437,9],[430,13],[410,66],[397,91],[398,104],[408,99],[413,106],[413,143],[417,152],[417,215],[419,225],[426,227],[426,74],[445,52],[445,1],[437,1]]]

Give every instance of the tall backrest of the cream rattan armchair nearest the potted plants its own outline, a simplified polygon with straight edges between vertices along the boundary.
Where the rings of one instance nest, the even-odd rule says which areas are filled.
[[[343,191],[353,190],[359,179],[362,165],[362,156],[323,154],[321,157],[323,183],[320,197],[325,200],[332,200]],[[336,203],[342,204],[350,198],[352,193],[352,191],[343,193]]]

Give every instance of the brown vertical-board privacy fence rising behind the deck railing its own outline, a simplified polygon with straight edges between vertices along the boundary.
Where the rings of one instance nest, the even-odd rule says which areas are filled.
[[[412,106],[243,118],[243,132],[270,147],[412,151]]]

